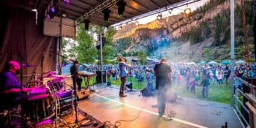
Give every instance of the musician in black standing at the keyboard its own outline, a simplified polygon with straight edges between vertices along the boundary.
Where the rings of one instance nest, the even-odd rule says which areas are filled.
[[[72,75],[72,80],[73,80],[73,88],[75,89],[75,80],[76,83],[78,84],[78,91],[81,91],[81,86],[82,86],[82,81],[83,79],[80,77],[79,73],[78,73],[78,61],[74,62],[74,65],[70,68],[70,73]],[[74,75],[76,75],[76,77],[74,77]]]

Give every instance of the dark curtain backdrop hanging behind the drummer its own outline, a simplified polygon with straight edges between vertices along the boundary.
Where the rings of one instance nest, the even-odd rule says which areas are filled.
[[[29,1],[24,3],[29,4]],[[43,51],[43,72],[56,70],[57,38],[42,35],[42,14],[39,13],[37,25],[35,12],[13,5],[14,2],[5,4],[0,1],[0,71],[9,60],[18,61],[18,52],[23,55],[24,64],[34,64],[36,67],[23,67],[23,75],[32,74],[36,68],[37,74],[41,73],[41,60]],[[53,53],[51,56],[50,48]]]

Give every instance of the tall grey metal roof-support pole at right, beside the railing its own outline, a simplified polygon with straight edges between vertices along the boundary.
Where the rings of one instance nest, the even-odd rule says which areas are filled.
[[[231,50],[231,107],[234,106],[234,59],[235,59],[235,43],[234,43],[234,39],[235,39],[235,19],[234,19],[234,0],[230,0],[230,50]]]

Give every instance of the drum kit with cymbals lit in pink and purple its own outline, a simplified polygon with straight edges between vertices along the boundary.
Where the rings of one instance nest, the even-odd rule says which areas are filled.
[[[54,73],[56,72],[43,72],[47,76],[42,78],[49,78],[47,83],[29,91],[28,97],[24,99],[24,113],[29,118],[29,121],[35,124],[47,119],[53,119],[54,117],[56,117],[56,125],[57,120],[67,124],[59,116],[63,112],[73,110],[75,96],[72,88],[66,89],[64,82],[71,75],[53,75]],[[67,127],[70,126],[67,124]]]

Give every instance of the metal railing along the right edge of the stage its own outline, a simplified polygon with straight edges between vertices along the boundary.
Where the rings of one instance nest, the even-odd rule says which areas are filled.
[[[249,109],[245,104],[249,100],[249,97],[248,97],[248,94],[246,94],[246,93],[252,93],[252,95],[255,96],[256,86],[252,85],[251,83],[248,83],[246,80],[243,80],[241,78],[236,78],[236,79],[241,81],[243,91],[241,91],[241,89],[239,89],[237,85],[235,86],[236,101],[235,101],[234,108],[236,110],[236,113],[238,113],[238,117],[244,122],[244,125],[246,127],[249,127],[250,126],[249,125]],[[253,92],[251,92],[252,90],[253,90]],[[245,92],[245,91],[248,91],[248,92]],[[243,99],[241,99],[239,97],[239,94],[241,94],[243,96]]]

